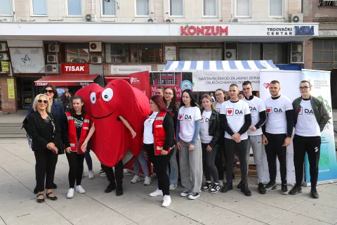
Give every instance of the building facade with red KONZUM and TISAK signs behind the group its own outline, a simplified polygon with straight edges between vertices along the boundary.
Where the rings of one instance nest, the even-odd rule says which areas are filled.
[[[304,20],[303,7],[300,0],[4,0],[0,55],[11,70],[0,73],[2,111],[27,108],[46,82],[76,91],[141,70],[156,77],[168,60],[304,65],[319,24]],[[178,86],[184,76],[152,85]]]

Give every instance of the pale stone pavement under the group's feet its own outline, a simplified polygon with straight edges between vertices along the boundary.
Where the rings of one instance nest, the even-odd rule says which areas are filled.
[[[68,165],[65,155],[61,155],[55,172],[58,188],[53,190],[58,200],[46,199],[46,203],[39,204],[32,192],[35,159],[27,141],[0,139],[0,225],[337,224],[336,184],[318,186],[320,198],[314,200],[309,198],[309,188],[303,188],[298,195],[281,195],[279,188],[260,195],[256,176],[249,176],[251,197],[234,188],[226,194],[203,192],[201,198],[187,200],[179,196],[183,188],[178,186],[171,191],[170,207],[164,208],[160,197],[149,196],[157,188],[157,179],[143,186],[141,182],[130,184],[132,175],[124,176],[124,195],[104,193],[106,178],[98,176],[100,164],[93,153],[91,156],[96,177],[84,177],[85,194],[66,198]]]

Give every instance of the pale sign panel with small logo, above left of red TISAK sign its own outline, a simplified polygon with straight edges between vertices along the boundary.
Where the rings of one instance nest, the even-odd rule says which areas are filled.
[[[43,48],[10,48],[13,73],[44,73]]]

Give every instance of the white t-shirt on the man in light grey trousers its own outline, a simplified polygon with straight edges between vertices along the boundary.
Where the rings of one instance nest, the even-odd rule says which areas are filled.
[[[251,100],[246,100],[246,98],[243,98],[243,101],[249,105],[249,110],[251,110],[251,126],[255,126],[260,121],[259,113],[265,111],[265,102],[256,96],[253,96],[253,99]],[[248,129],[247,134],[248,136],[261,135],[262,129],[259,128],[256,131],[251,131],[251,129]]]

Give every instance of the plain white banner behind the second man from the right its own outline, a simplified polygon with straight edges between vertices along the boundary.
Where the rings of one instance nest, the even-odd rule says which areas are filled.
[[[301,72],[300,71],[260,71],[260,98],[265,100],[270,97],[269,86],[272,80],[279,81],[281,90],[280,93],[290,99],[292,102],[295,98],[300,96],[298,86],[300,84]],[[265,105],[266,107],[268,105]],[[293,141],[291,140],[290,146],[286,148],[287,151],[287,181],[288,184],[296,183],[295,167],[293,166]],[[267,163],[267,155],[263,153],[263,180],[265,183],[269,182],[269,170]],[[281,184],[281,177],[279,174],[279,160],[277,160],[277,184]]]

